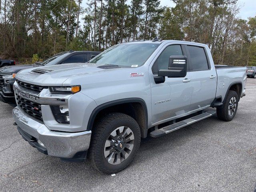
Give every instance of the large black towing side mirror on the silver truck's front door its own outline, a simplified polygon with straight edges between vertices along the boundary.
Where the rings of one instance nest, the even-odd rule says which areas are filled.
[[[168,69],[160,69],[158,76],[162,77],[185,77],[187,74],[186,56],[170,56]]]

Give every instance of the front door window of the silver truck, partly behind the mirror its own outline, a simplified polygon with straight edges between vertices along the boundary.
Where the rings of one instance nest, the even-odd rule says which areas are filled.
[[[160,69],[168,69],[170,56],[173,55],[183,55],[180,45],[170,45],[163,50],[153,66],[153,73],[158,73]]]

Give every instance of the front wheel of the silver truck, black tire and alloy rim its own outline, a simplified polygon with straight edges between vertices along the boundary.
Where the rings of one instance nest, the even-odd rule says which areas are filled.
[[[92,130],[88,158],[99,172],[113,174],[132,162],[139,147],[138,123],[126,114],[110,113],[101,118]]]

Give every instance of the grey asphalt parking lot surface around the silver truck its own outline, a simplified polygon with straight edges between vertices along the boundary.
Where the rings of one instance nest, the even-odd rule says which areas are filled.
[[[89,162],[63,162],[32,148],[0,103],[0,191],[250,192],[256,184],[256,80],[249,78],[236,117],[216,116],[141,142],[135,160],[116,176]]]

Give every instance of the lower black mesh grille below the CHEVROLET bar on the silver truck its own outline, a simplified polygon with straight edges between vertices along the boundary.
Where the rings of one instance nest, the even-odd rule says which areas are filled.
[[[22,108],[24,112],[33,116],[34,118],[43,121],[41,105],[30,100],[26,100],[16,94],[17,105]]]

